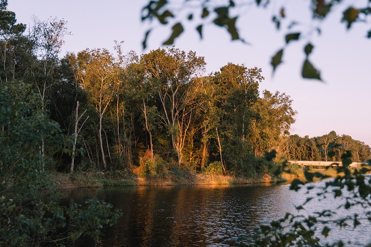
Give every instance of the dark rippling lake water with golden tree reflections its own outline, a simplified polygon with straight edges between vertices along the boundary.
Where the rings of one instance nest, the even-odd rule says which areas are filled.
[[[324,182],[314,184],[322,186]],[[259,224],[283,217],[287,211],[297,212],[294,205],[310,196],[305,192],[290,191],[288,184],[140,186],[64,191],[63,201],[81,203],[96,197],[123,212],[117,225],[102,230],[99,242],[83,238],[75,246],[229,246],[236,244],[230,240],[251,235]],[[338,217],[349,213],[336,209],[339,203],[330,196],[321,202],[312,200],[306,208],[337,210]],[[371,227],[367,220],[361,222],[355,229],[336,228],[321,242],[342,239],[352,241],[352,246],[363,246],[371,242]]]

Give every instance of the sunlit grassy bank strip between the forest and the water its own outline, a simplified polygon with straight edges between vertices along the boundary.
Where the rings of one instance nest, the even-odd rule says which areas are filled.
[[[243,177],[235,175],[217,175],[194,173],[192,171],[173,170],[166,175],[136,175],[130,170],[123,171],[91,171],[68,173],[51,173],[51,179],[57,183],[59,189],[99,188],[120,186],[175,186],[196,184],[247,184],[247,183],[275,183],[304,179],[304,169],[290,166],[291,173],[282,173],[278,177],[264,174],[261,177]],[[321,172],[324,176],[334,177],[336,169],[311,169],[311,172]]]

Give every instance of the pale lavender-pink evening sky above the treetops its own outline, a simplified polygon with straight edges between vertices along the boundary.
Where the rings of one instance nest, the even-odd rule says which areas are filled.
[[[170,26],[141,21],[141,10],[147,2],[8,0],[8,10],[15,12],[18,22],[28,26],[32,25],[32,16],[39,20],[50,17],[66,20],[72,35],[65,37],[62,56],[67,51],[77,53],[86,48],[107,48],[113,52],[115,40],[124,41],[124,53],[134,50],[143,54],[164,48],[161,44],[171,34]],[[312,26],[313,22],[308,11],[310,1],[271,2],[268,9],[244,8],[232,13],[240,14],[236,26],[249,45],[231,41],[226,30],[215,26],[211,19],[203,27],[202,40],[195,30],[196,23],[190,22],[184,25],[185,31],[174,45],[204,56],[207,63],[205,75],[219,71],[227,63],[262,68],[266,79],[260,84],[259,91],[278,90],[293,99],[292,106],[298,114],[291,134],[315,137],[335,131],[371,146],[371,39],[366,38],[369,24],[356,23],[347,30],[345,23],[340,23],[343,9],[334,9],[329,18],[321,22],[320,36],[303,34],[303,41],[292,42],[285,48],[283,64],[273,74],[271,57],[284,47],[287,29],[278,32],[271,21],[272,14],[284,6],[286,16],[303,20],[302,27]],[[367,0],[345,1],[345,6],[365,2]],[[369,23],[371,19],[367,21]],[[144,34],[150,27],[154,29],[148,37],[147,48],[143,49]],[[308,41],[314,45],[309,59],[321,71],[323,81],[301,77],[305,58],[303,47]]]

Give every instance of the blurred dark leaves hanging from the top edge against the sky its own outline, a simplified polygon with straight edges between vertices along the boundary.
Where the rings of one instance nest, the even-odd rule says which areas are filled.
[[[150,23],[158,22],[165,26],[171,25],[172,34],[163,45],[172,45],[175,39],[183,33],[184,28],[188,26],[188,24],[186,24],[187,21],[191,23],[193,26],[192,28],[197,30],[201,39],[203,37],[204,28],[207,24],[211,23],[226,29],[232,40],[247,43],[238,30],[238,26],[236,25],[237,19],[244,15],[244,13],[251,12],[254,8],[268,9],[269,7],[272,7],[272,22],[276,28],[279,30],[282,29],[283,25],[287,25],[287,28],[284,31],[287,32],[284,35],[286,45],[272,56],[271,64],[273,71],[282,63],[282,56],[287,45],[300,39],[309,39],[308,43],[303,47],[305,59],[302,67],[302,77],[318,80],[321,80],[320,72],[311,64],[309,55],[314,47],[310,40],[313,36],[315,37],[315,34],[318,36],[321,35],[321,22],[330,16],[331,12],[335,12],[335,10],[339,8],[342,11],[342,19],[340,22],[345,22],[348,29],[355,23],[367,23],[366,20],[369,20],[369,17],[371,16],[371,7],[369,1],[366,0],[362,1],[362,3],[358,5],[360,7],[348,5],[344,0],[303,1],[305,4],[308,4],[308,11],[311,20],[290,19],[285,11],[286,8],[289,7],[288,4],[282,3],[282,5],[280,5],[280,3],[276,3],[277,1],[269,0],[184,0],[182,3],[179,3],[179,1],[155,0],[147,2],[148,4],[146,4],[142,9],[142,21],[148,21]],[[272,4],[271,2],[275,2],[275,4]],[[188,18],[186,18],[186,16]],[[308,25],[306,23],[311,24]],[[295,27],[296,31],[293,31],[292,27]],[[149,34],[153,29],[154,27],[150,27],[145,34],[143,41],[144,48],[147,45]],[[371,38],[371,29],[366,32],[366,36],[367,38]]]

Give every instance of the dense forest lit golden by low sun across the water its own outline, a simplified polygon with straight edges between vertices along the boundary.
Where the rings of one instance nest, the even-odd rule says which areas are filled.
[[[58,151],[40,140],[40,152],[55,160],[51,169],[133,170],[150,160],[193,171],[217,162],[224,173],[257,175],[259,157],[272,149],[289,160],[327,161],[334,151],[331,160],[339,161],[345,150],[355,161],[370,158],[369,146],[347,135],[290,136],[292,100],[284,92],[259,94],[259,68],[229,63],[205,75],[196,52],[123,54],[122,42],[115,54],[87,48],[62,57],[64,20],[35,18],[25,32],[13,18],[1,28],[2,87],[38,95],[41,114],[63,131]]]

